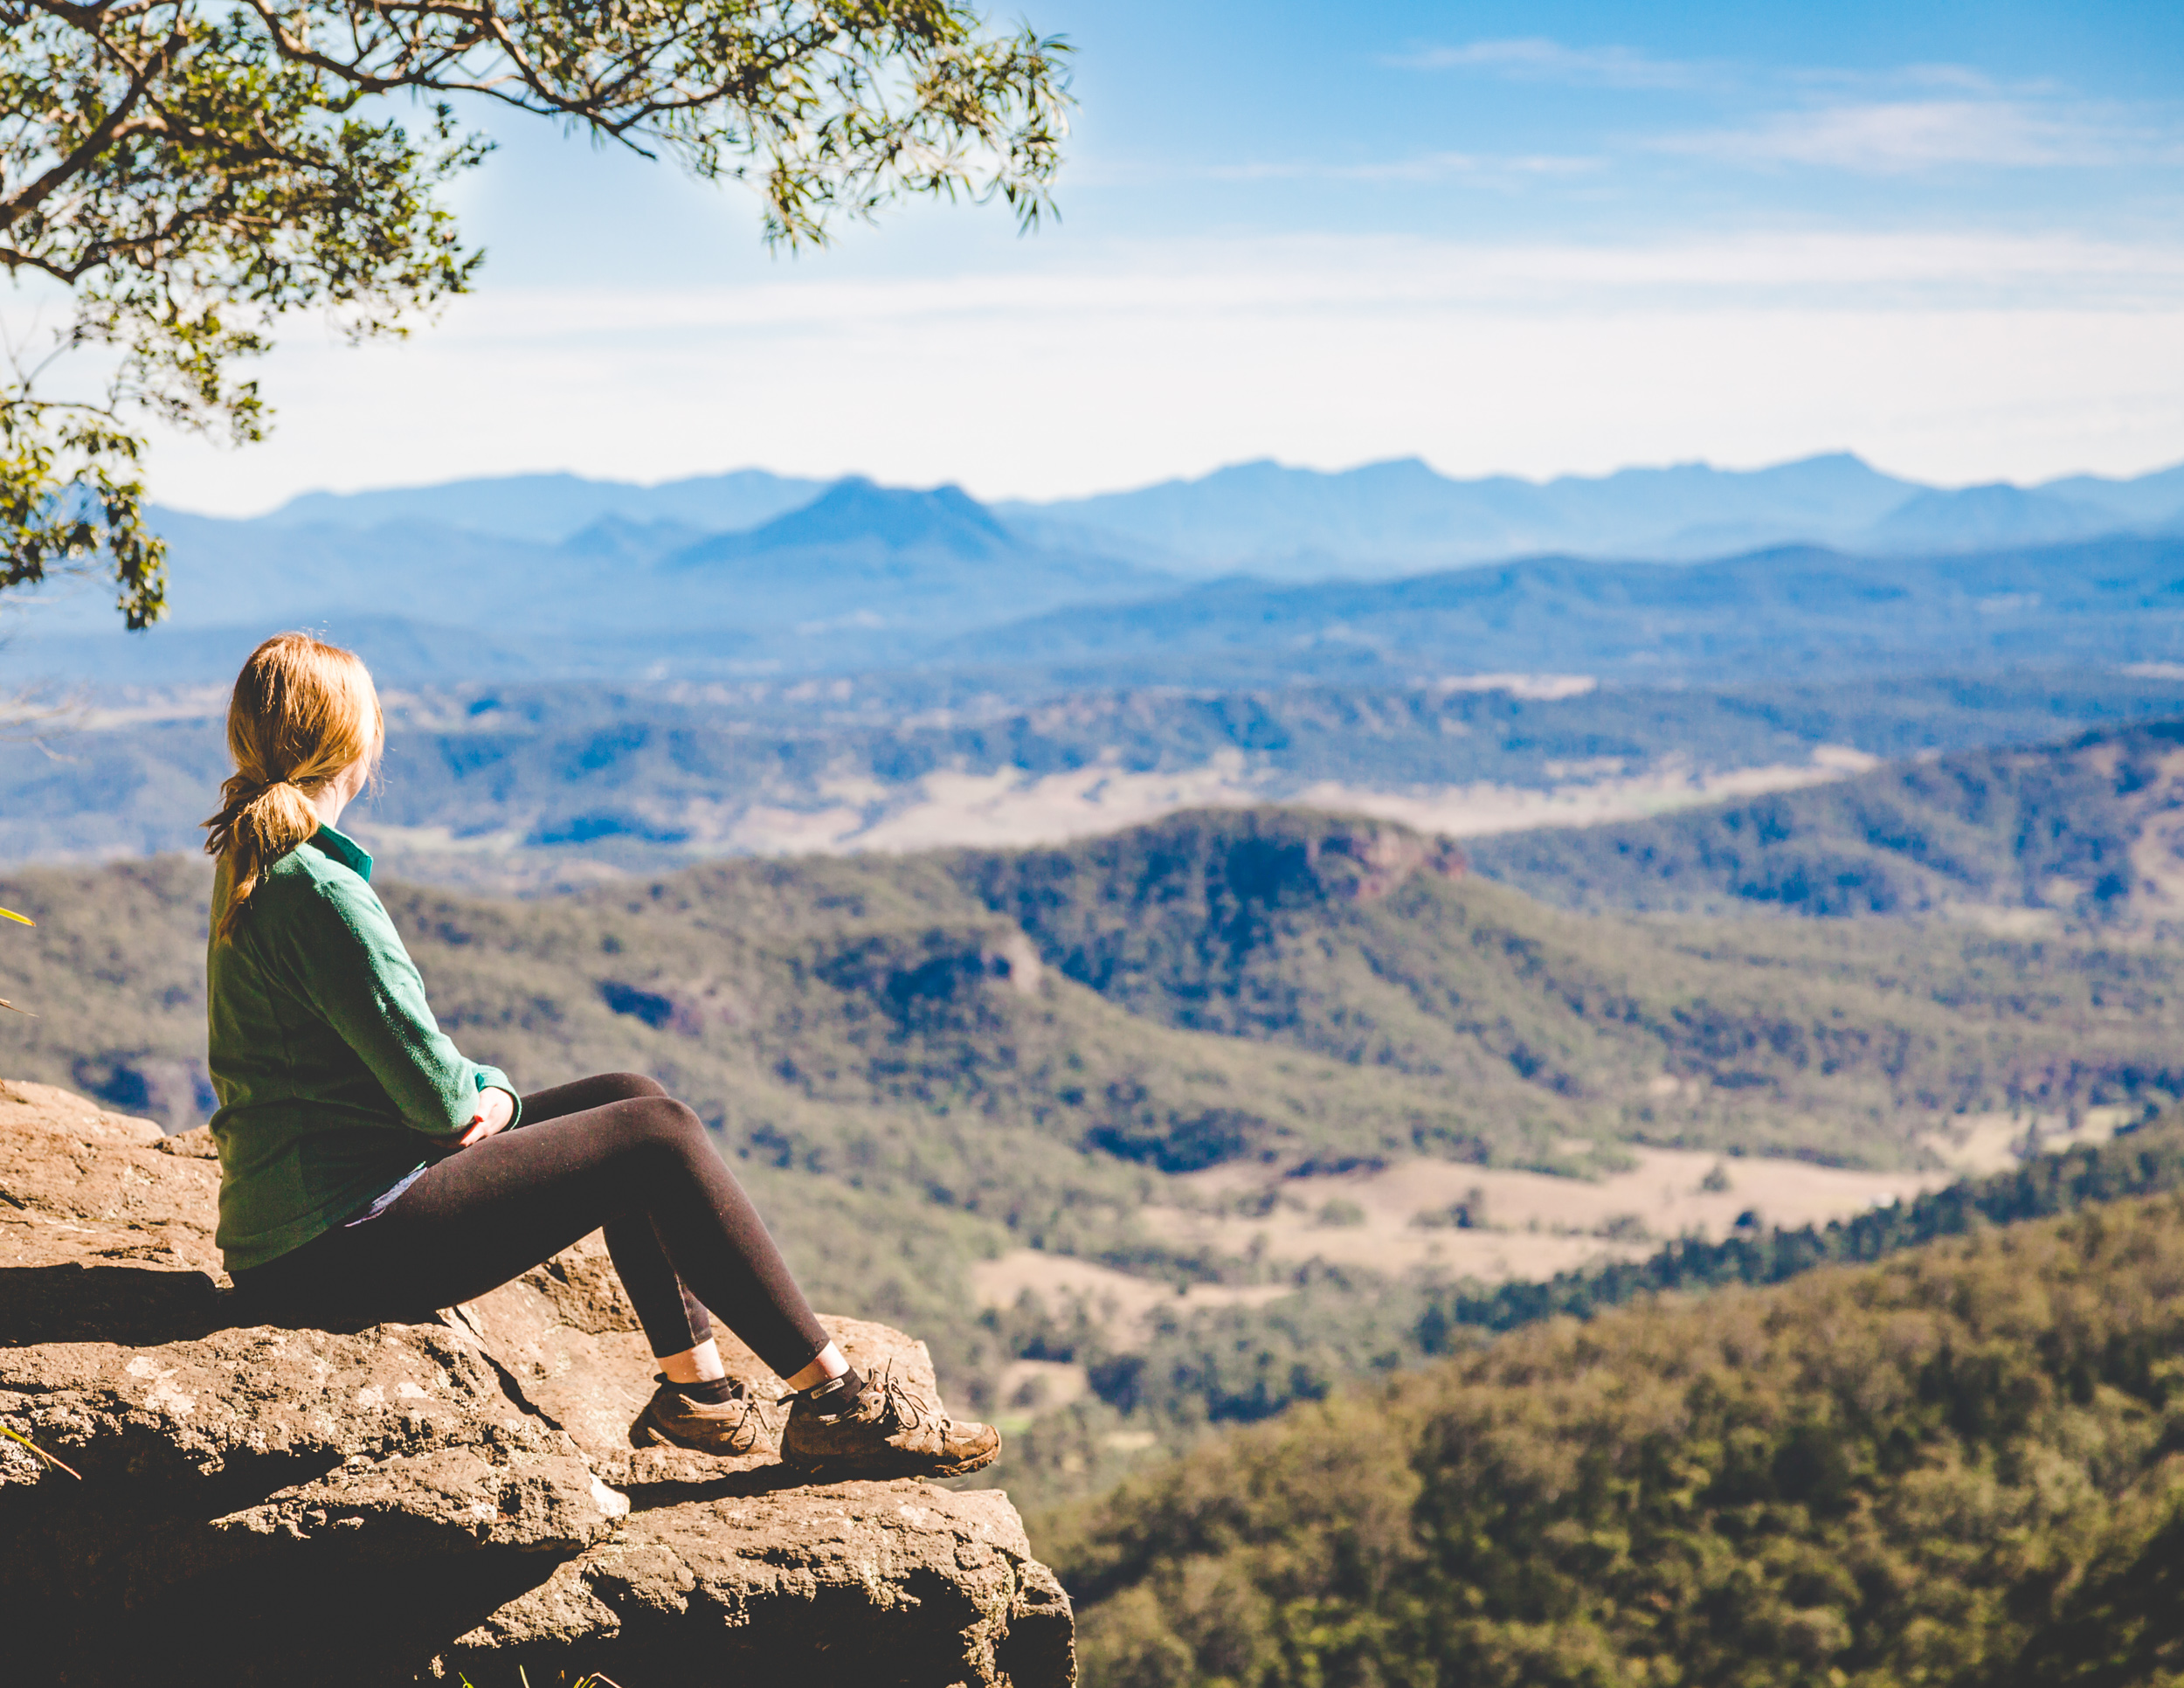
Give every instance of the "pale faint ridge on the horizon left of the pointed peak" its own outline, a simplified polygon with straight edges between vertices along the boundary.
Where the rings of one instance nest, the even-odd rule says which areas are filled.
[[[308,491],[260,520],[277,526],[341,528],[432,522],[555,544],[605,515],[629,522],[679,522],[697,533],[749,528],[808,504],[826,485],[764,469],[662,480],[653,487],[633,480],[587,480],[577,474],[511,474],[448,480],[439,487]]]

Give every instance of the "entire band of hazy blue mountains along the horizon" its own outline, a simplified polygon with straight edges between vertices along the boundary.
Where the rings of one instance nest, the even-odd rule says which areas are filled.
[[[1415,461],[1247,463],[992,509],[957,487],[758,469],[660,487],[515,476],[310,494],[256,520],[162,511],[162,627],[124,638],[103,592],[55,590],[11,594],[0,614],[20,614],[0,633],[9,681],[103,683],[218,679],[288,625],[411,683],[904,664],[1075,664],[1099,683],[1391,666],[1396,679],[1695,679],[2173,659],[2180,507],[2184,467],[1939,491],[1848,454],[1551,483],[1450,480]]]

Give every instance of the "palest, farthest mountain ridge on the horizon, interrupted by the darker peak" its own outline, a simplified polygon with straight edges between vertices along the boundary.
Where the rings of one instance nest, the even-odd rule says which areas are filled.
[[[561,544],[616,520],[690,533],[756,528],[826,487],[762,469],[657,487],[537,474],[306,494],[260,520],[349,531],[430,522]],[[1332,474],[1260,461],[1096,498],[1000,502],[994,515],[1059,550],[1125,555],[1179,574],[1385,576],[1529,552],[1695,561],[1780,544],[1904,552],[2088,539],[2184,518],[2184,465],[2136,480],[2070,476],[2031,489],[1944,491],[1850,452],[1767,469],[1682,463],[1555,480],[1457,480],[1417,459]]]

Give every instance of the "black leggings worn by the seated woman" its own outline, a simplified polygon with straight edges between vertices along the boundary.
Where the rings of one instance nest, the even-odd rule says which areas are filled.
[[[828,1345],[697,1114],[636,1072],[524,1096],[520,1127],[435,1162],[378,1219],[238,1271],[236,1288],[297,1321],[404,1319],[601,1227],[653,1354],[703,1343],[705,1308],[784,1378]]]

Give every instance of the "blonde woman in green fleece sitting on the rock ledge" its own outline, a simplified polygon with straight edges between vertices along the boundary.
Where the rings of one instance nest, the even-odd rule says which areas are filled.
[[[603,1227],[662,1371],[633,1441],[743,1454],[762,1439],[714,1308],[795,1391],[784,1463],[830,1478],[987,1465],[989,1426],[850,1367],[697,1114],[629,1072],[518,1096],[448,1042],[371,856],[334,830],[380,745],[354,653],[282,633],[242,666],[236,773],[205,823],[218,1245],[236,1288],[297,1323],[413,1319]]]

